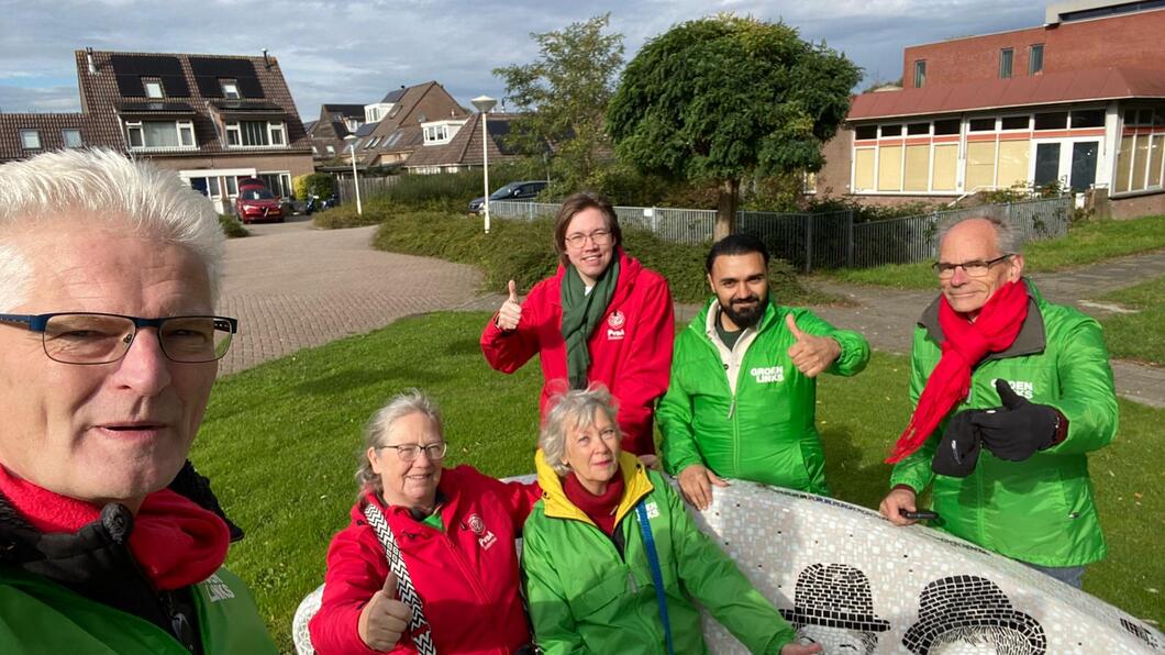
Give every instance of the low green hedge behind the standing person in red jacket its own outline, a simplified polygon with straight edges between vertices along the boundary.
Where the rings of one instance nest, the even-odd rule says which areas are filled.
[[[704,273],[708,244],[673,244],[641,230],[624,230],[623,241],[628,253],[668,279],[676,301],[700,303],[708,297],[711,291]],[[504,293],[509,280],[517,282],[518,289],[529,290],[558,268],[550,219],[494,220],[490,233],[486,234],[480,220],[465,216],[402,212],[381,224],[373,246],[476,266],[485,274],[486,289],[496,293]],[[769,277],[774,297],[779,302],[796,304],[826,300],[802,287],[784,261],[770,263]]]

